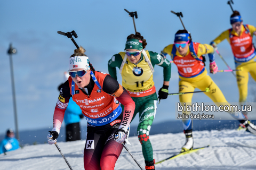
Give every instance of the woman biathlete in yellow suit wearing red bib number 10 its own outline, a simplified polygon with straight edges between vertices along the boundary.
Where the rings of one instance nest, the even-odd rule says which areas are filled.
[[[230,105],[227,103],[227,100],[219,87],[213,82],[211,77],[207,75],[204,66],[202,55],[208,54],[211,73],[215,74],[218,71],[217,64],[214,61],[214,49],[212,46],[208,44],[194,43],[187,30],[179,30],[175,33],[174,44],[166,46],[162,53],[164,55],[169,54],[174,64],[178,67],[180,79],[179,92],[191,92],[194,91],[195,88],[204,91],[206,88],[209,88],[210,92],[204,93],[211,98],[215,104],[218,106]],[[193,93],[179,96],[181,104],[191,103],[192,97]],[[230,112],[230,114],[237,120],[240,120],[241,123],[248,125],[248,121],[241,112]],[[183,119],[182,123],[186,135],[186,142],[181,151],[187,151],[193,149],[193,122],[190,119]],[[255,125],[250,125],[250,132],[256,134]]]

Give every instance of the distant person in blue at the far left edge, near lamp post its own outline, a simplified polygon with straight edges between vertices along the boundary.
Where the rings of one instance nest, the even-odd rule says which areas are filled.
[[[8,129],[4,140],[0,143],[0,154],[20,148],[19,141],[14,138],[12,129]]]

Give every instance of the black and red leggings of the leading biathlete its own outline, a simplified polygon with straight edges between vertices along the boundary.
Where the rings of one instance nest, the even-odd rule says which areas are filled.
[[[122,118],[123,115],[117,117],[116,120],[122,121]],[[122,152],[123,145],[114,140],[114,134],[121,123],[116,123],[113,126],[110,124],[103,126],[87,125],[87,137],[84,148],[84,169],[114,170],[116,161]]]

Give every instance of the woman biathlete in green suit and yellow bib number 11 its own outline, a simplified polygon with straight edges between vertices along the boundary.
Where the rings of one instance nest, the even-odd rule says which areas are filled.
[[[122,86],[135,102],[133,118],[139,114],[138,137],[142,145],[146,169],[155,169],[153,148],[149,140],[149,131],[156,115],[157,95],[153,81],[154,66],[164,70],[163,87],[158,92],[159,99],[168,96],[171,78],[171,63],[162,54],[144,50],[146,39],[139,32],[127,37],[125,52],[115,54],[108,62],[111,77],[117,79],[116,67],[122,75]]]

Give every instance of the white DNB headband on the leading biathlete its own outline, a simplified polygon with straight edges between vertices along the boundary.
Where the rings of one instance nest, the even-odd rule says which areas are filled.
[[[68,71],[71,71],[72,69],[85,69],[89,70],[89,59],[86,56],[75,56],[69,58],[69,69]]]

